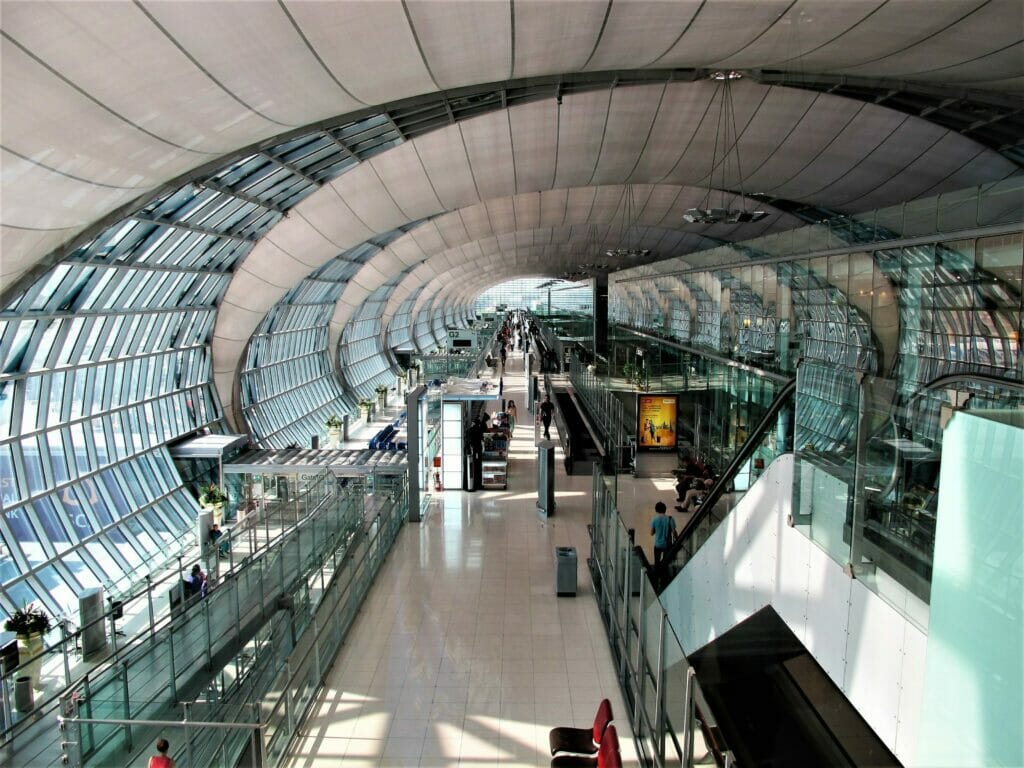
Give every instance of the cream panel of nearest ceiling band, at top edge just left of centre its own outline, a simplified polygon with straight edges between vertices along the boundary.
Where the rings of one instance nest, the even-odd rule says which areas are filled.
[[[512,77],[510,3],[436,0],[406,11],[438,88]]]

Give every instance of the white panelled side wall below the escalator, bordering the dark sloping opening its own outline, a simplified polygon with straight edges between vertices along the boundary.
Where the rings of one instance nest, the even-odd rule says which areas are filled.
[[[792,482],[793,458],[783,456],[662,594],[663,604],[685,650],[696,650],[766,604],[759,596],[771,593],[770,584],[752,590],[742,574],[767,578],[770,566],[763,562],[774,547],[779,571],[772,607],[906,763],[919,726],[927,637],[784,524]],[[897,722],[905,733],[898,733]]]

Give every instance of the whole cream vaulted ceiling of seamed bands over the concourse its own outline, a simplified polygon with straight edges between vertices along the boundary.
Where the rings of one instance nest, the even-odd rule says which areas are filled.
[[[5,2],[0,276],[16,283],[95,222],[245,147],[437,94],[447,120],[424,114],[429,128],[414,131],[415,104],[401,125],[384,113],[396,145],[367,160],[352,150],[347,172],[292,208],[236,270],[213,342],[230,413],[240,355],[273,303],[339,252],[412,221],[426,219],[344,291],[335,340],[397,273],[391,311],[421,286],[418,305],[524,270],[557,275],[616,226],[622,241],[624,222],[637,223],[651,258],[678,257],[706,238],[793,226],[782,211],[794,203],[851,213],[1019,173],[1001,139],[975,125],[1019,119],[1019,109],[955,130],[935,118],[949,118],[953,95],[1019,100],[1022,27],[1018,0]],[[732,87],[741,184],[721,168],[710,176],[722,153],[718,91],[701,73],[714,69],[753,76]],[[560,84],[615,70],[663,76]],[[456,98],[502,81],[543,92]],[[853,81],[859,97],[842,90]],[[835,92],[819,92],[826,82]],[[934,109],[874,103],[894,82],[945,96]],[[455,122],[456,110],[477,108],[488,112]],[[772,215],[757,224],[686,224],[681,212],[710,185],[780,203],[758,205]]]

